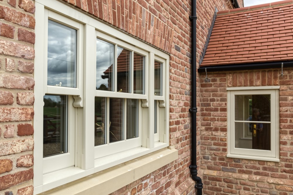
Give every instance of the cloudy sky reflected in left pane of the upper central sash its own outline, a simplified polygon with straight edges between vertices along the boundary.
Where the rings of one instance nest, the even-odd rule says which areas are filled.
[[[108,79],[102,79],[104,72],[114,63],[114,45],[97,39],[97,64],[96,64],[96,87],[101,84],[108,87]],[[113,75],[112,75],[113,77]]]

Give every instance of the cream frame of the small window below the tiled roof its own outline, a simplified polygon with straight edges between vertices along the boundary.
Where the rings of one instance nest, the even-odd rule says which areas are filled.
[[[228,154],[227,157],[245,158],[254,160],[279,162],[279,89],[280,86],[263,87],[230,87],[227,88],[227,130],[228,130]],[[270,94],[271,108],[271,150],[242,149],[235,147],[235,95]],[[244,100],[246,101],[246,99]],[[243,102],[243,107],[246,105]],[[247,107],[247,105],[246,105]],[[245,114],[245,113],[243,113]],[[243,135],[244,138],[244,135]],[[244,138],[244,139],[249,139]]]

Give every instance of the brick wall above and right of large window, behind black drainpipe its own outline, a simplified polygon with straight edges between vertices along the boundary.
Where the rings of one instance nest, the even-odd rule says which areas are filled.
[[[169,138],[170,145],[175,145],[178,149],[179,158],[113,194],[177,195],[188,194],[191,191],[195,193],[195,182],[190,178],[188,168],[190,165],[190,115],[188,112],[190,108],[191,43],[188,18],[191,14],[190,1],[62,1],[171,54]],[[231,0],[197,1],[197,58],[202,54],[207,42],[208,29],[212,24],[216,7],[219,11],[234,8]],[[197,106],[200,107],[200,104],[198,103]]]

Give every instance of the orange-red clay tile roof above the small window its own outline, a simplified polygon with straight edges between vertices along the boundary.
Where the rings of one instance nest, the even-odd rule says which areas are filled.
[[[293,0],[219,11],[200,66],[293,60]]]

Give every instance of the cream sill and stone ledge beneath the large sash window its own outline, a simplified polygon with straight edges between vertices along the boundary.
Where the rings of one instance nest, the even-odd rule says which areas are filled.
[[[153,152],[137,147],[95,159],[95,168],[89,170],[69,167],[45,174],[43,185],[35,187],[34,194],[110,194],[178,158],[174,146],[166,147],[168,144],[164,143],[155,146],[156,150],[162,149]]]

